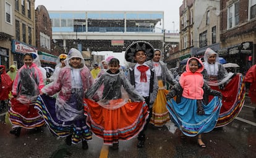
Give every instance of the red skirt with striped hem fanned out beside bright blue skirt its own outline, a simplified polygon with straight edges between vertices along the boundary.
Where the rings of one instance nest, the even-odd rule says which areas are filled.
[[[220,116],[216,127],[223,127],[229,124],[240,113],[244,106],[245,98],[245,82],[242,74],[236,76],[228,82],[224,89],[219,89],[218,86],[210,86],[211,89],[218,90],[222,93],[222,103]],[[211,98],[210,98],[211,100]]]

